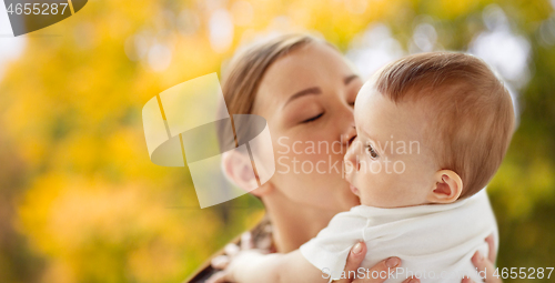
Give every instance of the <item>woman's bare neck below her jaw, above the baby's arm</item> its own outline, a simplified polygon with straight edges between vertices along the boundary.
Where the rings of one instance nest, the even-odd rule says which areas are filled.
[[[279,190],[263,198],[272,223],[272,236],[279,253],[297,250],[327,226],[340,211],[306,206],[286,199]]]

